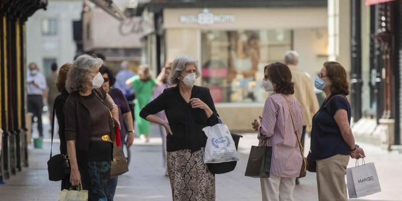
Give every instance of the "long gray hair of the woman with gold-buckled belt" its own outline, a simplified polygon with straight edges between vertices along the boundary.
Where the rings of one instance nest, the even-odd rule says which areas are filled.
[[[104,61],[95,56],[83,54],[77,57],[67,73],[66,90],[71,93],[73,91],[86,91],[88,73],[97,71]]]

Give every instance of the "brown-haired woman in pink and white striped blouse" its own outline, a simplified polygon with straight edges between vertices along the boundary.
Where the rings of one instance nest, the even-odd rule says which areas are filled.
[[[262,85],[273,91],[266,101],[261,120],[254,120],[258,139],[272,146],[269,178],[261,178],[262,200],[293,200],[296,177],[302,167],[298,138],[302,134],[302,106],[291,96],[294,92],[292,75],[287,65],[272,63],[264,68]],[[297,137],[294,132],[293,116]]]

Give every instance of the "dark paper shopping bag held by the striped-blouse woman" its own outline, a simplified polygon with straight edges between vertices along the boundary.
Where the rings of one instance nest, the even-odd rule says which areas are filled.
[[[266,140],[258,146],[251,146],[245,176],[254,178],[268,178],[271,170],[272,147],[265,146]],[[262,146],[260,146],[262,145]]]

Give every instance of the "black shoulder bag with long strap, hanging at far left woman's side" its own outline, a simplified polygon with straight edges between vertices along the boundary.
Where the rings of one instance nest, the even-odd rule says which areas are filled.
[[[49,173],[49,180],[60,181],[66,179],[70,176],[70,160],[68,156],[64,154],[57,154],[52,156],[53,147],[53,136],[54,136],[54,111],[53,106],[53,117],[52,117],[52,142],[50,146],[50,159],[47,161],[47,171]]]

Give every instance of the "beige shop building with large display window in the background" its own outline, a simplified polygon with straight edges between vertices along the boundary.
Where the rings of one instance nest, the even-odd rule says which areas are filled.
[[[198,59],[196,84],[210,88],[234,131],[249,131],[262,113],[269,95],[261,86],[265,65],[296,50],[298,68],[312,76],[314,87],[328,59],[327,1],[155,2],[145,16],[153,17],[155,31],[145,37],[143,61],[163,66],[180,54]]]

